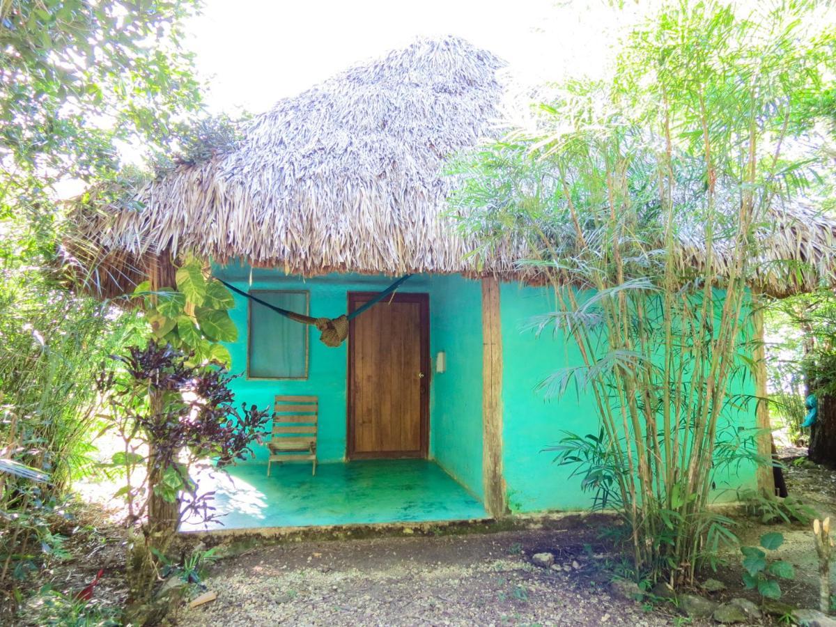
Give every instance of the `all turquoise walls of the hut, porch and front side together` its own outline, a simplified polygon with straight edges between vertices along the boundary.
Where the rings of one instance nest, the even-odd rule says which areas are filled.
[[[305,289],[310,312],[334,318],[344,314],[347,293],[376,291],[392,279],[357,274],[330,274],[302,280],[278,270],[227,266],[216,274],[243,290]],[[461,276],[415,276],[401,288],[430,294],[430,456],[472,494],[482,498],[482,293],[481,284]],[[503,283],[501,288],[503,354],[503,464],[512,510],[537,512],[549,509],[589,507],[589,495],[580,490],[571,469],[553,464],[553,454],[542,452],[555,444],[563,431],[586,434],[597,431],[597,417],[589,396],[569,394],[545,400],[535,387],[554,370],[579,364],[579,354],[561,337],[536,338],[523,327],[533,316],[553,310],[550,293],[543,288]],[[308,327],[309,365],[306,380],[248,380],[247,301],[236,295],[232,318],[239,339],[227,344],[232,354],[236,402],[270,408],[273,396],[319,396],[319,461],[342,461],[346,436],[347,352],[343,344],[332,349],[319,341],[319,332]],[[436,354],[446,353],[446,372],[438,374]],[[743,392],[753,393],[751,379],[737,381]],[[754,425],[754,411],[742,413],[742,426]],[[259,447],[257,456],[266,458]],[[718,488],[754,485],[754,469],[742,466],[720,479]]]

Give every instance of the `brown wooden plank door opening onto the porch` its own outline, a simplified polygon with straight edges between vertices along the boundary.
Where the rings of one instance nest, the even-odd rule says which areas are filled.
[[[349,312],[375,293],[350,292]],[[426,457],[430,301],[400,293],[349,325],[349,459]]]

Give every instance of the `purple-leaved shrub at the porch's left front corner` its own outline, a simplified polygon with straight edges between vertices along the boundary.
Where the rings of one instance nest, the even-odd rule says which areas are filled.
[[[189,467],[207,459],[228,466],[247,459],[252,445],[262,441],[268,412],[245,403],[236,409],[229,389],[234,376],[222,368],[186,365],[190,356],[168,345],[130,347],[127,354],[112,356],[120,367],[103,366],[97,380],[125,440],[115,465],[147,468],[145,485],[129,482],[123,492],[131,522],[150,515],[154,497],[177,503],[178,523],[192,514],[211,520],[212,495],[197,496]],[[140,454],[138,445],[147,445],[148,453]]]

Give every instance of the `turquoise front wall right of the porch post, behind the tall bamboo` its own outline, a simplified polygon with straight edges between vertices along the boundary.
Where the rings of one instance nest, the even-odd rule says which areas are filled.
[[[547,400],[535,390],[555,370],[582,363],[577,349],[561,336],[536,337],[525,330],[534,316],[555,309],[552,301],[546,288],[502,284],[503,464],[509,507],[516,512],[582,509],[590,504],[589,494],[580,489],[580,477],[569,477],[570,467],[557,466],[554,454],[543,452],[544,446],[563,437],[563,431],[584,436],[599,428],[592,395],[578,398],[570,392]],[[751,377],[733,385],[737,391],[755,393]],[[753,405],[742,410],[740,425],[755,426]],[[715,494],[729,499],[733,493],[728,488],[755,485],[755,468],[745,463],[718,477]]]

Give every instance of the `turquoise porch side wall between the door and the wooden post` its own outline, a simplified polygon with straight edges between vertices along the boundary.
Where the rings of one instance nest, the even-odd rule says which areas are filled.
[[[446,354],[446,371],[433,373],[431,455],[479,498],[482,489],[482,284],[460,276],[434,277],[430,303],[435,359]],[[435,370],[435,362],[433,364]]]

